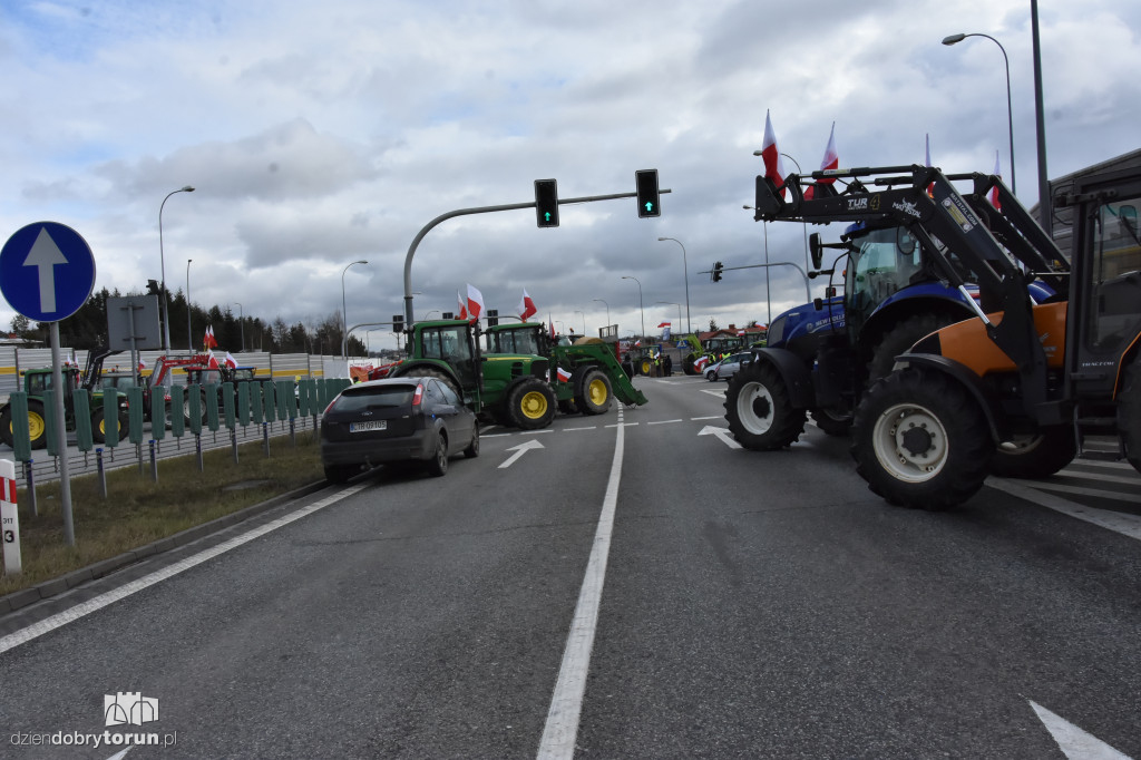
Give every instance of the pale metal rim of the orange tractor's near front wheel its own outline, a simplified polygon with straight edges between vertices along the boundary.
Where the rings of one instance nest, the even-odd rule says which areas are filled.
[[[923,406],[890,406],[875,421],[872,435],[875,458],[897,480],[924,483],[947,464],[947,430]]]

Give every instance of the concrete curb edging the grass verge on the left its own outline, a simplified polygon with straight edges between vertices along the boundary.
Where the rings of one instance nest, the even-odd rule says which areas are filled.
[[[204,539],[208,535],[217,533],[218,531],[243,523],[251,517],[257,517],[262,512],[269,511],[275,507],[280,507],[296,499],[308,496],[309,494],[316,493],[325,487],[327,487],[327,483],[324,480],[310,483],[307,486],[294,488],[293,491],[280,494],[258,504],[252,504],[236,512],[222,515],[221,517],[215,518],[209,523],[186,528],[175,535],[159,539],[157,541],[138,547],[137,549],[124,551],[115,557],[110,557],[107,559],[99,560],[94,565],[88,565],[87,567],[81,567],[78,571],[72,571],[66,575],[60,575],[59,577],[51,579],[50,581],[38,583],[30,589],[23,589],[21,591],[9,593],[8,596],[0,597],[0,615],[7,615],[8,613],[21,609],[22,607],[27,607],[37,601],[58,596],[64,591],[74,589],[78,585],[87,583],[88,581],[94,581],[105,575],[110,575],[115,571],[122,569],[128,565],[133,565],[147,557],[151,557],[152,555],[159,555],[164,551],[170,551],[171,549],[185,547],[188,543]]]

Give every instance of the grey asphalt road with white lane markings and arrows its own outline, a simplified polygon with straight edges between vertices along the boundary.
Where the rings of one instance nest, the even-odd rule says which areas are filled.
[[[1141,758],[1132,469],[1023,484],[1082,519],[1000,487],[901,510],[815,427],[785,452],[731,448],[723,385],[639,386],[645,407],[492,429],[444,478],[381,469],[0,620],[0,742],[559,757],[573,712],[578,758],[1112,757],[1058,726]],[[118,692],[160,719],[105,727]]]

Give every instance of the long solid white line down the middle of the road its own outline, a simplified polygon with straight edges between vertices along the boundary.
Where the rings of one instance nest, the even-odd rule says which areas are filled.
[[[609,426],[607,426],[609,427]],[[614,531],[614,512],[618,503],[618,484],[622,480],[622,454],[625,429],[622,412],[618,411],[618,428],[614,444],[614,461],[610,478],[602,498],[602,512],[594,532],[594,545],[586,564],[586,575],[578,591],[578,604],[570,623],[563,665],[555,684],[551,708],[547,712],[547,725],[539,743],[541,760],[570,760],[574,758],[574,739],[578,733],[582,700],[586,692],[586,673],[590,670],[590,653],[594,646],[598,628],[598,608],[602,601],[602,583],[606,580],[606,563],[610,555],[610,535]]]

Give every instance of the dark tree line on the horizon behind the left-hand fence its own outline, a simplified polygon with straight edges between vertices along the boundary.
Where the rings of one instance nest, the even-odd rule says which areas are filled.
[[[127,296],[140,296],[130,292]],[[107,299],[122,298],[119,289],[108,291],[106,288],[91,293],[91,298],[75,314],[60,320],[59,342],[75,349],[94,349],[107,345]],[[161,296],[160,296],[161,299]],[[161,302],[161,300],[160,300]],[[298,322],[288,324],[280,316],[273,322],[260,317],[234,314],[227,305],[202,308],[197,304],[186,308],[186,297],[181,290],[170,294],[170,348],[172,351],[187,349],[186,320],[189,314],[191,332],[195,350],[202,349],[202,338],[207,326],[213,329],[215,340],[222,351],[237,354],[242,350],[270,351],[274,354],[325,354],[341,353],[341,313],[340,309],[319,320],[309,320],[309,324]],[[160,307],[161,313],[161,307]],[[32,322],[25,316],[16,315],[11,321],[11,332],[29,341],[40,341],[48,345],[48,322]],[[244,346],[243,346],[244,341]],[[365,343],[355,334],[349,335],[349,356],[365,356]]]

